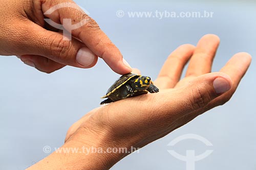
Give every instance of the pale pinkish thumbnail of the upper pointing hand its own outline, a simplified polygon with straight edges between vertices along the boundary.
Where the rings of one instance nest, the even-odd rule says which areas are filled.
[[[76,55],[76,61],[84,67],[87,67],[94,62],[95,57],[96,56],[89,48],[82,47]]]

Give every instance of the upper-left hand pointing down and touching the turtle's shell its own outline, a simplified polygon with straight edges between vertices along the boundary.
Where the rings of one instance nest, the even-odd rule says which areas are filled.
[[[72,0],[1,1],[0,55],[16,55],[24,63],[47,73],[66,65],[90,68],[97,63],[98,57],[118,74],[132,71],[129,64],[122,60],[118,48],[100,30],[96,21],[86,13],[74,8],[60,8],[52,14],[44,15],[50,8],[61,3],[74,2]],[[60,30],[51,27],[44,18],[50,18],[62,25],[63,18],[71,18],[72,25],[83,20],[87,22],[80,28],[72,30],[71,41],[65,41]]]

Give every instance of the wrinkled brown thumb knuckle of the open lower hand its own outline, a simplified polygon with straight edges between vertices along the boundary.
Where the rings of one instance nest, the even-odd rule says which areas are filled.
[[[201,90],[199,87],[191,89],[189,95],[190,106],[193,110],[204,108],[211,101],[210,93],[205,89]]]

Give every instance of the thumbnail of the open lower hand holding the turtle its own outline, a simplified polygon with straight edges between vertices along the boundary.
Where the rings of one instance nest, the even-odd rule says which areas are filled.
[[[226,79],[219,77],[214,80],[214,89],[217,94],[224,93],[230,90],[230,88],[231,88],[231,85]]]

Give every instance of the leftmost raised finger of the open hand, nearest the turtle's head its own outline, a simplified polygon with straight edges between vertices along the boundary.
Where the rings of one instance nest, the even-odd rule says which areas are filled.
[[[193,55],[195,46],[184,44],[179,46],[165,61],[155,84],[160,89],[173,88],[180,80],[182,70]]]

